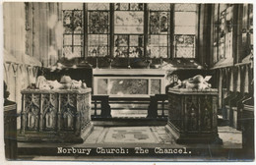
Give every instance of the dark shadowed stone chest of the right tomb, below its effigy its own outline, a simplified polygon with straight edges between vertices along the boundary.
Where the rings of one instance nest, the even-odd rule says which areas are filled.
[[[217,100],[217,89],[169,89],[166,131],[177,143],[222,143]]]

